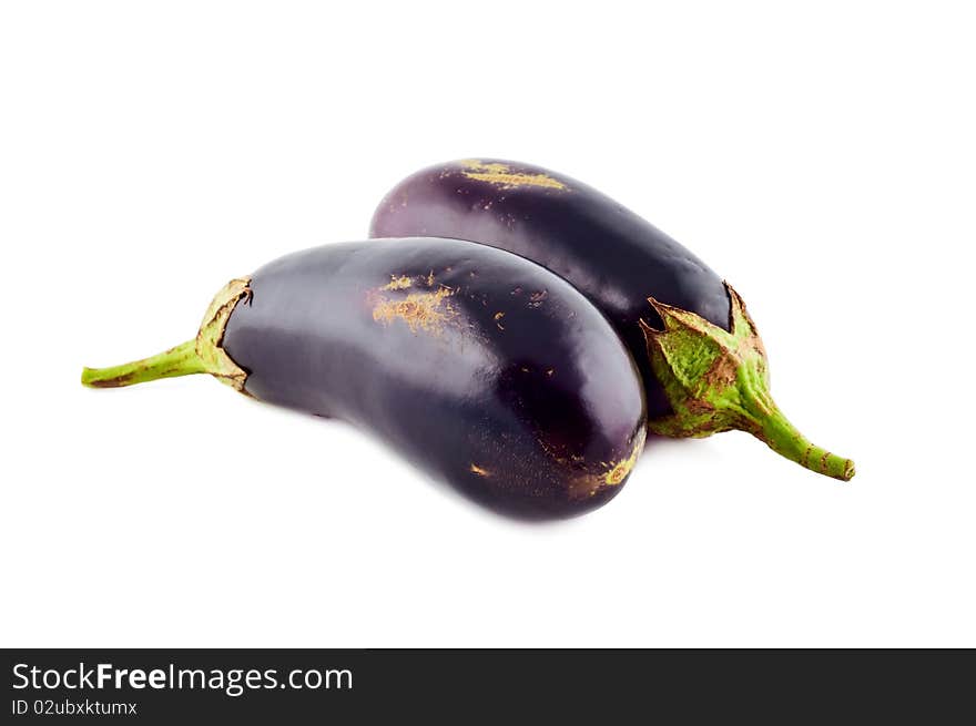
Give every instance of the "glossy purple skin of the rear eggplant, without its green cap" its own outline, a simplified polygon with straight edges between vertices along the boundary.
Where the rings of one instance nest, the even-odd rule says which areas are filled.
[[[651,371],[639,325],[640,319],[662,325],[648,297],[729,329],[729,295],[708,265],[607,195],[538,166],[478,160],[408,176],[377,207],[369,236],[410,235],[507,249],[572,283],[633,354],[649,418],[667,416],[671,407]]]

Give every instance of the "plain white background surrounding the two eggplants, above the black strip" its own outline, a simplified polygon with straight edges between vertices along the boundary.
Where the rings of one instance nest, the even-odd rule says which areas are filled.
[[[976,645],[966,6],[3,3],[0,644]],[[478,155],[731,280],[854,481],[658,440],[530,525],[206,377],[79,385]]]

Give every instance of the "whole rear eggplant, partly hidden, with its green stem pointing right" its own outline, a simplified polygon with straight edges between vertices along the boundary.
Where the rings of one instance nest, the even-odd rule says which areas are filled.
[[[439,164],[397,184],[373,216],[370,237],[409,235],[507,249],[572,283],[633,354],[652,433],[744,430],[807,469],[854,476],[850,459],[811,443],[773,402],[765,349],[735,290],[604,194],[518,162]]]

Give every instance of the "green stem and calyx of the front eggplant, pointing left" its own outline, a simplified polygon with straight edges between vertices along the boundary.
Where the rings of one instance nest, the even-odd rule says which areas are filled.
[[[84,368],[81,382],[89,388],[120,388],[160,378],[193,374],[211,374],[218,380],[244,392],[247,371],[223,348],[224,330],[231,314],[244,298],[251,297],[251,278],[232,279],[216,294],[196,337],[161,354],[108,368]]]

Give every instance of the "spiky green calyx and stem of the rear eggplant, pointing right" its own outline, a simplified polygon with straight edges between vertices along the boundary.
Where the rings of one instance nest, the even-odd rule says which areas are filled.
[[[664,323],[658,330],[641,320],[651,368],[664,388],[671,416],[648,423],[668,437],[706,437],[748,431],[801,467],[834,479],[854,477],[854,462],[811,443],[770,396],[769,365],[755,324],[739,294],[726,284],[731,331],[694,313],[648,301]]]

